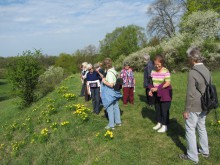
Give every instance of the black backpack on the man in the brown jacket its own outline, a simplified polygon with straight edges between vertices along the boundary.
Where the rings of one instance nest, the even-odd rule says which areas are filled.
[[[206,89],[204,93],[202,93],[198,89],[198,84],[196,84],[196,88],[202,95],[201,96],[202,109],[203,111],[207,111],[208,114],[212,109],[218,108],[218,96],[217,96],[216,87],[211,83],[211,78],[210,78],[210,82],[208,83],[201,72],[199,72],[196,69],[193,70],[197,71],[205,80]]]

